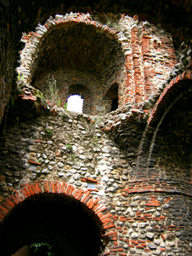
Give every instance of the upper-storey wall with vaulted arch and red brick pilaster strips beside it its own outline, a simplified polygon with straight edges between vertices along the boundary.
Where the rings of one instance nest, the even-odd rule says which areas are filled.
[[[36,97],[34,88],[45,92],[51,74],[58,80],[61,99],[65,100],[62,104],[72,84],[88,88],[92,100],[84,113],[97,113],[97,106],[102,106],[115,83],[118,108],[131,104],[142,108],[143,102],[163,90],[175,65],[172,40],[163,29],[139,22],[136,16],[122,15],[114,27],[92,20],[89,14],[70,13],[51,17],[44,26],[38,24],[35,32],[22,36],[26,47],[17,68],[22,99]]]

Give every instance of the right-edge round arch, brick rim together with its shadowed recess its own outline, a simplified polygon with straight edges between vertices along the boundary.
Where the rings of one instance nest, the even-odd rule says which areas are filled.
[[[160,172],[173,175],[177,170],[177,179],[191,181],[191,92],[188,70],[167,84],[150,113],[137,161],[138,168],[147,170],[150,178]]]

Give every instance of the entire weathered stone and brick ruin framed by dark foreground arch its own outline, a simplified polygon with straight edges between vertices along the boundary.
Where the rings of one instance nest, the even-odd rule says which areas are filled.
[[[0,145],[5,256],[35,239],[67,255],[192,253],[191,49],[176,60],[163,29],[101,17],[56,15],[22,36]],[[83,113],[40,102],[49,74]]]

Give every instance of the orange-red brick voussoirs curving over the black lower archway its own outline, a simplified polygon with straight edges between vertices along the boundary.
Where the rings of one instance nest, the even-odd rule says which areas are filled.
[[[8,198],[1,202],[0,222],[4,220],[6,215],[9,214],[17,204],[23,202],[26,198],[41,193],[58,193],[70,196],[71,198],[79,200],[82,204],[86,205],[86,207],[92,210],[101,221],[105,219],[105,214],[102,212],[105,211],[107,207],[99,204],[99,198],[94,200],[89,190],[83,191],[83,189],[74,188],[65,181],[60,182],[57,180],[36,181],[30,184],[23,184],[21,187],[22,188],[20,190],[15,190],[13,195],[8,196]],[[105,226],[106,224],[104,225],[104,229],[109,228],[108,226]],[[111,227],[113,227],[113,225],[111,225]]]

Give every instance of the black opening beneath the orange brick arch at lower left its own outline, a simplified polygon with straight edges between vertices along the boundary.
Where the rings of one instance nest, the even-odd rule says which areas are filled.
[[[43,193],[18,204],[1,223],[1,253],[10,256],[27,244],[44,242],[68,256],[97,256],[101,235],[99,218],[88,207],[65,195]]]

